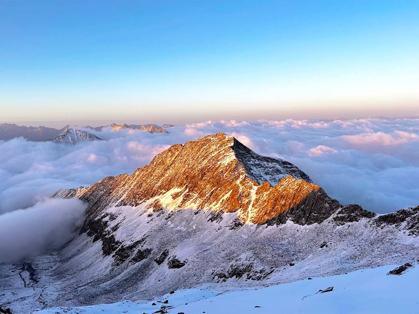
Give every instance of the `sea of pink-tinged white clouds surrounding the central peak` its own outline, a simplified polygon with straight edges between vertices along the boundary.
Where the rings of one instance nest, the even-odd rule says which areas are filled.
[[[0,236],[13,235],[10,226],[24,228],[15,236],[22,248],[17,251],[24,252],[24,243],[33,239],[38,242],[31,242],[30,253],[51,247],[46,234],[54,236],[57,247],[83,220],[81,202],[48,199],[59,188],[130,174],[172,144],[215,132],[233,135],[261,155],[294,163],[341,204],[360,204],[376,213],[419,205],[419,119],[207,121],[171,127],[169,134],[84,130],[103,141],[0,141]]]

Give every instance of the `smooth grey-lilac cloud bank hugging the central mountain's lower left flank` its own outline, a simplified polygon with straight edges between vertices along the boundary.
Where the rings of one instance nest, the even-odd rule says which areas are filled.
[[[61,247],[83,224],[85,208],[78,199],[50,198],[0,215],[0,262]]]

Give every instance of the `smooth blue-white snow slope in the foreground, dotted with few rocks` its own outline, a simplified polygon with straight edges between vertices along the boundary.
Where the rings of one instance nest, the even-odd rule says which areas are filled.
[[[96,306],[56,307],[37,313],[142,314],[158,311],[161,306],[168,306],[168,313],[185,314],[419,313],[416,289],[419,267],[411,267],[401,275],[387,275],[388,271],[397,266],[357,270],[346,275],[305,279],[258,290],[218,293],[205,289],[186,289],[149,302],[122,301]],[[316,293],[332,286],[333,291]],[[166,300],[167,304],[161,303]]]

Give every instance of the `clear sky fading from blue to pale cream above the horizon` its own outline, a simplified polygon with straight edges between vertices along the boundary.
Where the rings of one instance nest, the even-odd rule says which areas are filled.
[[[0,122],[419,112],[418,1],[0,2]]]

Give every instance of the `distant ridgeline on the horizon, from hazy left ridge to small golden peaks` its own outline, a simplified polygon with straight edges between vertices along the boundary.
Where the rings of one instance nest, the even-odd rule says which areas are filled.
[[[161,127],[155,124],[147,124],[147,125],[116,125],[112,123],[111,125],[104,125],[100,127],[91,127],[85,126],[85,129],[91,129],[96,132],[100,132],[105,127],[113,127],[114,131],[122,130],[122,129],[139,129],[143,131],[147,131],[150,133],[167,133],[164,128],[174,127],[174,125],[165,124]],[[26,127],[26,126],[19,126],[16,124],[11,123],[0,123],[0,140],[11,140],[13,138],[23,137],[27,140],[31,141],[47,141],[56,138],[59,135],[62,135],[62,132],[65,132],[70,128],[70,125],[66,125],[62,129],[54,129],[52,127]],[[75,126],[73,129],[77,129],[78,127]],[[54,140],[55,141],[55,140]]]

